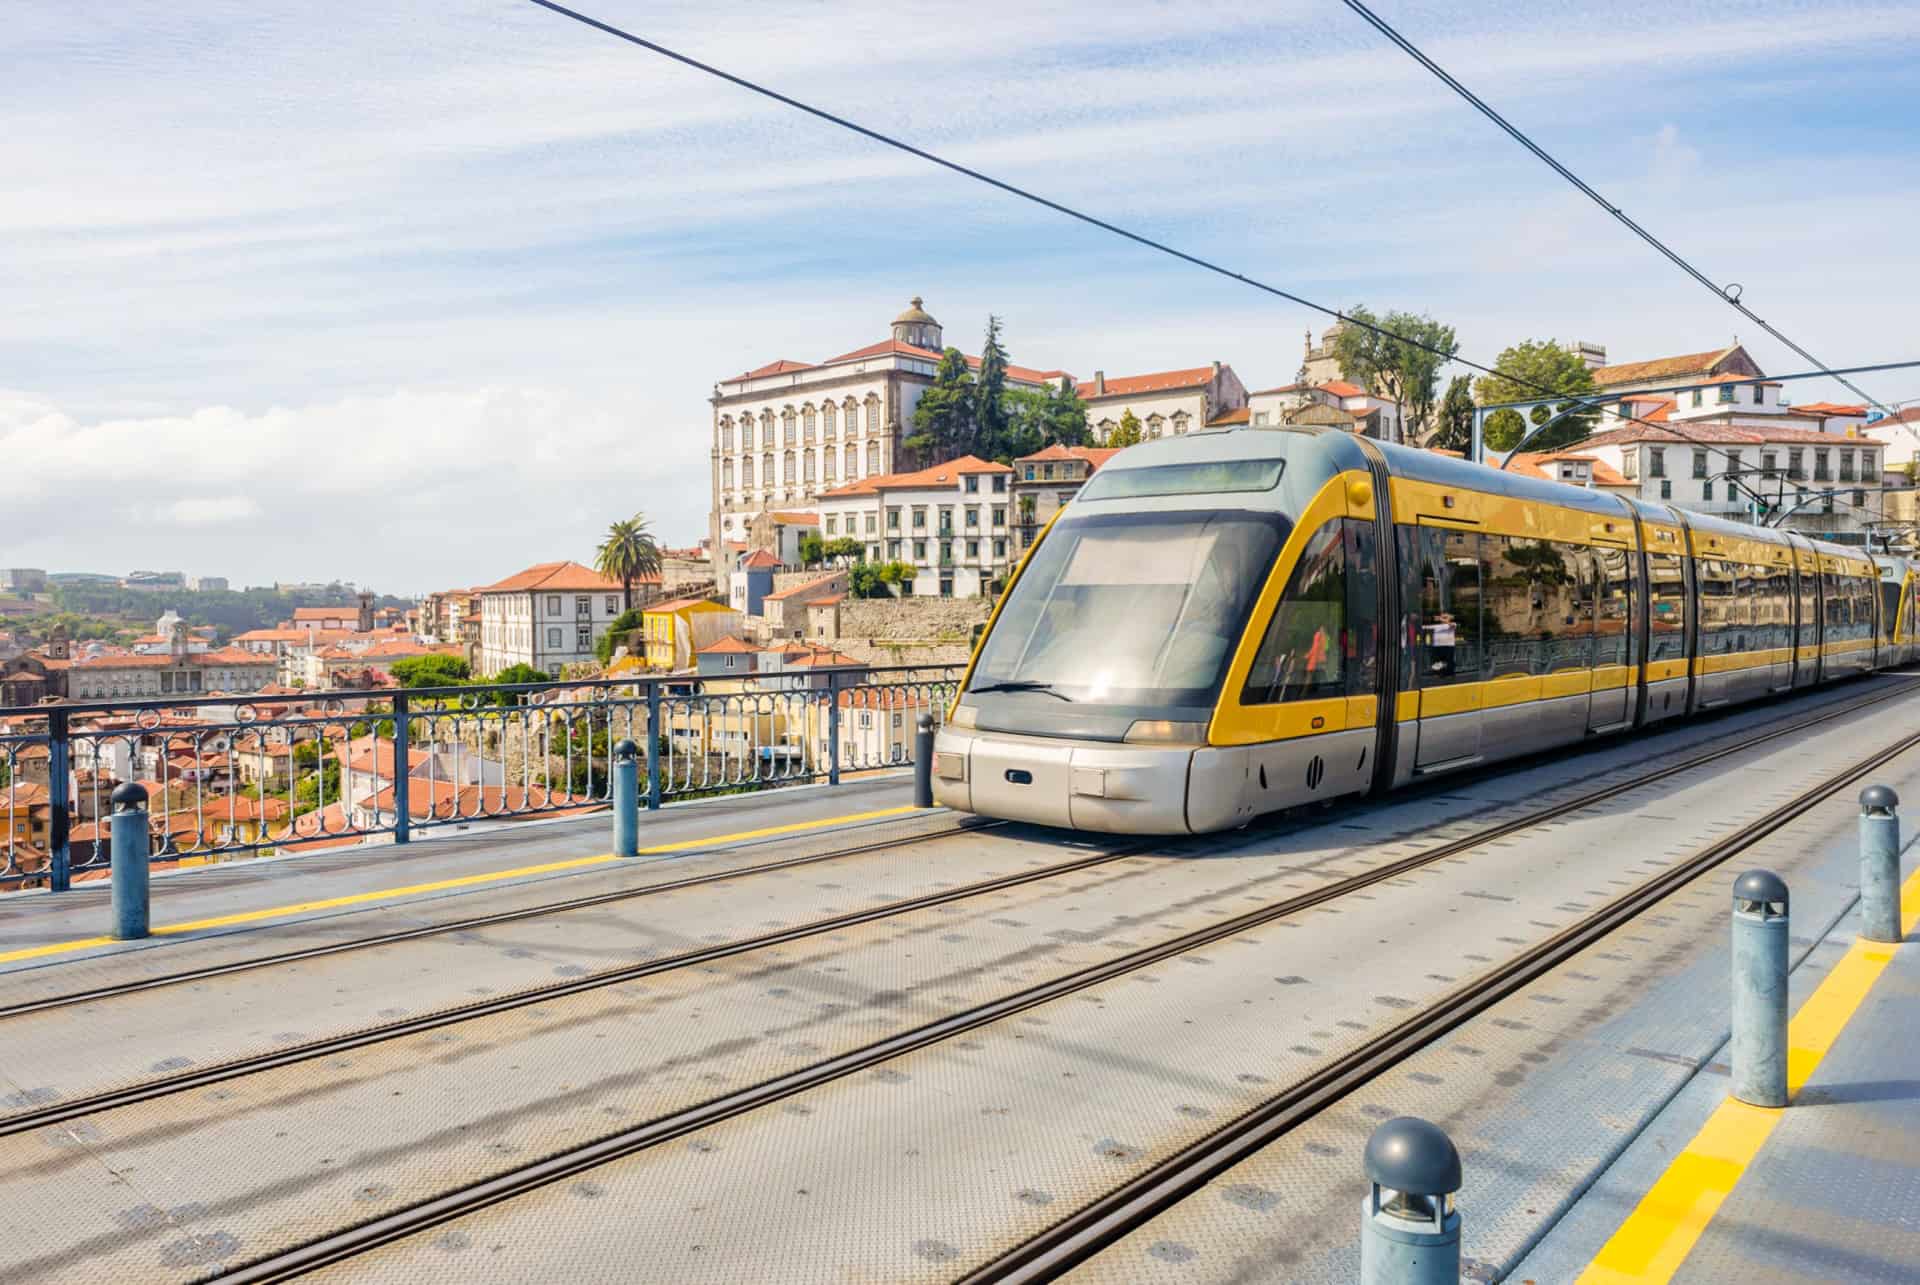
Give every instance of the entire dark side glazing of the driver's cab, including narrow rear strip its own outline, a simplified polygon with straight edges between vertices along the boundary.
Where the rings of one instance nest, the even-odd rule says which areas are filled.
[[[1371,522],[1313,532],[1240,691],[1244,705],[1371,695],[1379,680],[1379,561]]]

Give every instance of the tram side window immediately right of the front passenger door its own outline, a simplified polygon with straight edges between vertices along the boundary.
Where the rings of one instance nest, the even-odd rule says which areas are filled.
[[[1580,617],[1572,546],[1482,536],[1486,676],[1586,667],[1592,626]]]

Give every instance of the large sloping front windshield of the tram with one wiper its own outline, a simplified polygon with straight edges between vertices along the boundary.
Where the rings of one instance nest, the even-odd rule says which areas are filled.
[[[1208,707],[1286,530],[1283,517],[1236,511],[1060,522],[1014,584],[968,690],[1135,716]]]

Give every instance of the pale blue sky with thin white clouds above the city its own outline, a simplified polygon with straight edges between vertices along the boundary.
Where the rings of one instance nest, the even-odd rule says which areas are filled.
[[[578,4],[1478,361],[1803,369],[1338,0]],[[1920,357],[1920,0],[1373,8],[1824,363]],[[1323,321],[526,0],[10,0],[0,65],[4,567],[486,584],[691,544],[714,380],[908,296],[1081,378]]]

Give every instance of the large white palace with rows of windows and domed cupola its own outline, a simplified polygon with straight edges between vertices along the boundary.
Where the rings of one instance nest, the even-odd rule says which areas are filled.
[[[810,513],[822,492],[900,469],[900,442],[912,434],[914,405],[933,384],[945,344],[941,323],[916,298],[879,342],[824,361],[768,361],[714,384],[716,580],[732,570],[728,546],[753,540],[756,517]],[[1062,378],[1064,371],[1006,371],[1014,388]]]

